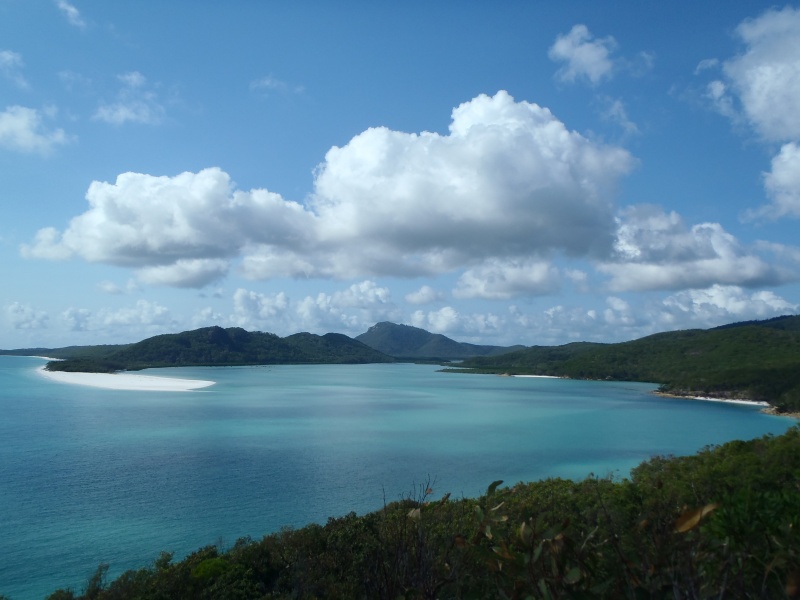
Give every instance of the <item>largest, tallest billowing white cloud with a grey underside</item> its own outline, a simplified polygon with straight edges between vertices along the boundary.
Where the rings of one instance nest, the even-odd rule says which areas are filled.
[[[615,184],[633,163],[498,92],[457,107],[447,136],[374,128],[331,149],[312,207],[323,244],[359,240],[349,260],[336,257],[355,272],[413,276],[487,256],[603,253]]]

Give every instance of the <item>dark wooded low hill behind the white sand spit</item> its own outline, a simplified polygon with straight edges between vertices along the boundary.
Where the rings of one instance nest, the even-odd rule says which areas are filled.
[[[98,347],[90,347],[98,348]],[[238,327],[205,327],[157,335],[136,344],[50,362],[51,371],[111,372],[152,367],[358,364],[393,362],[346,335],[297,333],[285,338]]]

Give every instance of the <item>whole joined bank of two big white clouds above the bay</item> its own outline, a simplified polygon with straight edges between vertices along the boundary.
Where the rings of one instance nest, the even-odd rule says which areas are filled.
[[[353,279],[603,256],[615,187],[634,162],[498,92],[454,109],[448,135],[375,128],[332,148],[306,205],[236,190],[218,168],[124,173],[93,182],[84,214],[63,232],[40,230],[22,252],[128,266],[178,286],[207,284],[239,258],[251,279]],[[509,277],[512,288],[532,285]]]

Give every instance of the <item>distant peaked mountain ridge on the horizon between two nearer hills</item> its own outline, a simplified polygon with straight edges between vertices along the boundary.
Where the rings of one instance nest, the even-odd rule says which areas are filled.
[[[520,350],[525,346],[481,346],[456,342],[439,333],[431,333],[411,325],[398,325],[388,321],[376,323],[365,333],[356,336],[366,344],[398,359],[448,360],[473,356],[494,356]]]

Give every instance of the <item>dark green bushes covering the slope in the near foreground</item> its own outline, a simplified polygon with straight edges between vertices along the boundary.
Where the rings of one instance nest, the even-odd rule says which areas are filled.
[[[363,516],[174,562],[162,553],[50,600],[791,598],[800,590],[800,428],[657,457],[629,479],[547,479],[477,499],[435,482]]]

